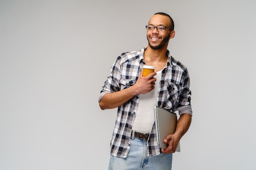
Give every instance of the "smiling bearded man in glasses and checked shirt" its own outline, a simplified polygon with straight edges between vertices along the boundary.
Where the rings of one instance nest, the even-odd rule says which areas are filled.
[[[99,96],[101,109],[118,107],[109,169],[170,170],[172,153],[191,124],[189,74],[167,50],[175,36],[173,20],[156,13],[146,29],[148,46],[119,55]],[[143,65],[153,65],[155,72],[143,77]],[[157,145],[155,105],[180,114],[175,133],[164,139],[166,149]]]

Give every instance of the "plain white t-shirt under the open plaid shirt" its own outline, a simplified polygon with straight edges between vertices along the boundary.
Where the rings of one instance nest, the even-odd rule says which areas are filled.
[[[159,90],[162,70],[156,73],[157,75],[154,76],[154,78],[157,79],[155,81],[155,88],[151,90],[151,92],[139,95],[139,106],[132,126],[133,131],[150,133],[155,122],[154,107],[157,105],[157,93]]]

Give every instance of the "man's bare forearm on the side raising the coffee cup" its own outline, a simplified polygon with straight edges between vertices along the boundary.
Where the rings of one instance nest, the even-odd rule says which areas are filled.
[[[106,93],[102,96],[99,106],[102,110],[114,109],[123,105],[125,102],[130,100],[133,96],[137,95],[133,86],[123,89],[118,92]]]

